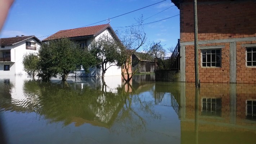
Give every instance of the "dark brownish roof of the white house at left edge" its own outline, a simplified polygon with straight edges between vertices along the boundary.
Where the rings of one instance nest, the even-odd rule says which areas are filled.
[[[18,37],[8,37],[8,38],[1,38],[0,39],[0,45],[13,45],[28,39],[35,39],[38,42],[41,42],[37,37],[35,36],[18,36]]]

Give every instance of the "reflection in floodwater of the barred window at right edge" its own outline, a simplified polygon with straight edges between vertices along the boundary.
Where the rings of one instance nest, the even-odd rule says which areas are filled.
[[[256,100],[246,101],[246,119],[256,121]]]

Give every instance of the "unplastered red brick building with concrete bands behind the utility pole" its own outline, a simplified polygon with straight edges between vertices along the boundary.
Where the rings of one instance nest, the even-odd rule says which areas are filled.
[[[180,10],[180,81],[194,82],[194,1]],[[256,83],[256,1],[197,0],[199,80]]]

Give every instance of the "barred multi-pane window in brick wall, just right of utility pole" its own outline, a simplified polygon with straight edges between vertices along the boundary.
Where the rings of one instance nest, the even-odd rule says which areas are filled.
[[[202,52],[202,67],[220,67],[221,66],[221,50],[207,49]]]

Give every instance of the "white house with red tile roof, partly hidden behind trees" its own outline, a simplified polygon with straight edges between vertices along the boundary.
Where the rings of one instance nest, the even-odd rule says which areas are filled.
[[[81,48],[90,49],[91,42],[93,40],[99,39],[99,37],[103,35],[107,35],[109,37],[112,37],[113,39],[118,39],[116,33],[114,32],[114,30],[109,24],[102,24],[97,26],[61,30],[47,37],[46,39],[42,40],[42,42],[47,42],[49,40],[68,37],[72,41],[80,43]],[[88,77],[98,77],[98,76],[101,76],[101,74],[102,74],[102,70],[100,68],[91,68],[90,73],[87,73],[87,74],[85,74],[84,71],[76,72],[77,76],[82,75],[82,76],[88,76]],[[120,76],[120,75],[121,75],[121,69],[118,68],[117,66],[111,66],[107,69],[104,76]],[[69,76],[72,76],[72,75],[69,75]]]

